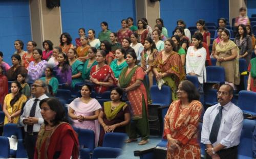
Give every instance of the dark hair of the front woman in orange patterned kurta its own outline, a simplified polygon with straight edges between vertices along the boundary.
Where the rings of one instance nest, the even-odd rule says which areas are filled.
[[[181,82],[182,90],[187,93],[188,101],[199,100],[200,94],[197,91],[196,86],[188,80],[184,80]]]

